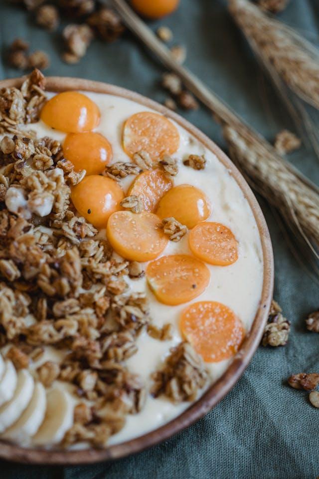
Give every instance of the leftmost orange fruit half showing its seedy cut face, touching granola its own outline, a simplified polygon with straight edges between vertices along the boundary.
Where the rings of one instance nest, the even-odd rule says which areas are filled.
[[[119,211],[110,216],[106,235],[115,251],[132,261],[155,259],[168,239],[159,228],[159,218],[150,212]]]

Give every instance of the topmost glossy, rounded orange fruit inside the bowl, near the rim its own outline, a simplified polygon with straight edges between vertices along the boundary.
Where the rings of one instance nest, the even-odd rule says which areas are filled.
[[[78,91],[64,91],[48,100],[42,108],[41,120],[56,130],[78,133],[96,128],[100,110],[89,97]]]

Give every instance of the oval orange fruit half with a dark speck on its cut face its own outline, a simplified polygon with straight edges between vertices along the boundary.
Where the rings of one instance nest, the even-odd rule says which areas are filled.
[[[148,264],[146,277],[157,299],[174,306],[199,296],[209,283],[210,273],[193,256],[172,254]]]

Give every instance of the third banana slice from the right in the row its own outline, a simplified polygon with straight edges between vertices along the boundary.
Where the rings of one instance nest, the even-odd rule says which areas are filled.
[[[0,433],[21,416],[30,402],[33,394],[34,380],[26,369],[21,369],[17,374],[16,388],[12,399],[0,407]]]

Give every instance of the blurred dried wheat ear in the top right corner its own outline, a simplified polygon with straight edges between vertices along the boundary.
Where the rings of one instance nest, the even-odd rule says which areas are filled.
[[[248,0],[229,0],[229,10],[263,63],[319,109],[319,51]]]

